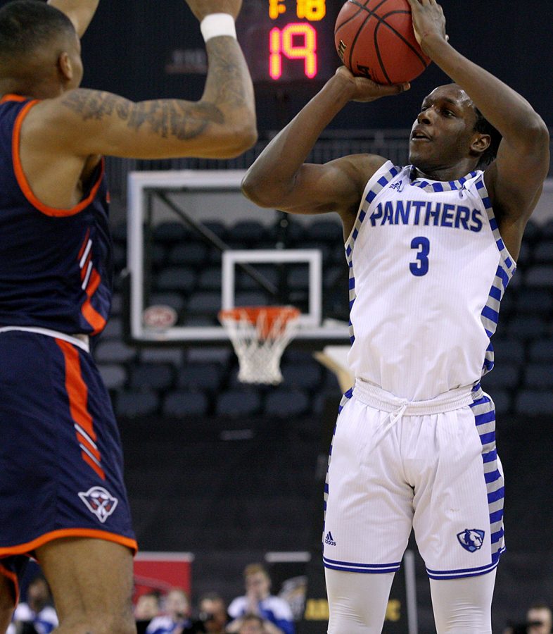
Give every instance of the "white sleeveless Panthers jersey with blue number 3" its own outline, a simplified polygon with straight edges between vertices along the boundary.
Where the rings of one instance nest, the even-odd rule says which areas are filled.
[[[493,366],[490,337],[516,264],[483,172],[412,179],[388,161],[369,180],[345,243],[355,377],[400,398],[432,399]]]

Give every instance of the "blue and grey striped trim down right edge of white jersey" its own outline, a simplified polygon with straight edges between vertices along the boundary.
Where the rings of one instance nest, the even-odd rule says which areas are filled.
[[[500,316],[500,302],[502,300],[505,289],[509,284],[509,281],[516,271],[516,263],[509,255],[509,251],[507,251],[507,248],[505,247],[505,244],[500,235],[500,229],[497,225],[497,220],[495,219],[495,215],[493,213],[490,197],[488,196],[488,191],[485,188],[483,174],[481,174],[480,178],[476,180],[476,191],[482,199],[486,214],[488,215],[490,229],[492,230],[495,244],[497,245],[497,250],[500,252],[500,263],[497,266],[495,278],[492,282],[490,293],[488,294],[488,301],[485,303],[485,306],[483,307],[481,313],[482,325],[484,326],[488,337],[490,337],[491,339],[497,328],[497,321],[499,320]],[[490,344],[488,345],[488,349],[486,349],[484,356],[482,375],[488,373],[493,368],[493,365],[494,352],[492,342],[490,341]]]

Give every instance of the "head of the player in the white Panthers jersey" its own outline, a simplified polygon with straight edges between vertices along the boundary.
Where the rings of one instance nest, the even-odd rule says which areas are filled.
[[[501,135],[457,84],[434,89],[422,102],[411,129],[409,162],[425,173],[459,165],[465,173],[485,168]]]

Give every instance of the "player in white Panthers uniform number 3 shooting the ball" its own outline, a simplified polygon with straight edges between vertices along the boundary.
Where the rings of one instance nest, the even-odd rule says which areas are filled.
[[[453,82],[424,99],[411,164],[367,155],[304,163],[349,101],[409,87],[342,67],[243,180],[260,206],[336,211],[343,221],[355,386],[327,482],[331,634],[381,632],[412,528],[438,634],[491,633],[504,550],[495,408],[479,381],[493,366],[490,337],[547,175],[549,135],[523,97],[447,41],[436,1],[409,4],[424,53]]]

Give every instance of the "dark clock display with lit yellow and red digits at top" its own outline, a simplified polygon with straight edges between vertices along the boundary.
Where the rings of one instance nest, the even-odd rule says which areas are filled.
[[[254,82],[324,82],[340,60],[333,30],[341,0],[245,0],[236,23]]]

